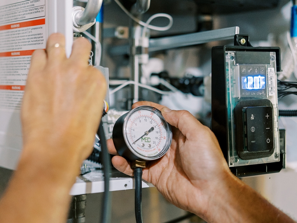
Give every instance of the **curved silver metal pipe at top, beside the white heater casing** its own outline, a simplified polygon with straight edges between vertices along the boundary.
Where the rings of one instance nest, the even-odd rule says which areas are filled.
[[[76,24],[84,26],[93,22],[101,9],[102,1],[103,0],[89,0],[85,10],[75,14],[74,20]]]

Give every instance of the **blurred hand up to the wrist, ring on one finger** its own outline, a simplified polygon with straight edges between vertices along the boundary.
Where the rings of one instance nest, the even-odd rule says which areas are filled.
[[[21,109],[24,153],[39,146],[39,153],[67,153],[81,162],[93,148],[106,82],[88,65],[87,39],[75,40],[69,59],[64,47],[64,36],[53,34],[46,51],[32,55]]]

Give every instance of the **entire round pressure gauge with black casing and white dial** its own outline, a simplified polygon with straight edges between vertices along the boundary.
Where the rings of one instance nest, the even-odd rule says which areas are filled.
[[[130,161],[150,161],[162,157],[172,141],[171,126],[161,112],[139,106],[122,115],[113,127],[117,152]]]

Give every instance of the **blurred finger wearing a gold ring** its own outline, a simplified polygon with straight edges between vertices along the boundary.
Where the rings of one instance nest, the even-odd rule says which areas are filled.
[[[48,62],[61,63],[66,59],[65,52],[65,37],[61,33],[54,33],[48,37],[46,44],[46,53],[48,55]]]

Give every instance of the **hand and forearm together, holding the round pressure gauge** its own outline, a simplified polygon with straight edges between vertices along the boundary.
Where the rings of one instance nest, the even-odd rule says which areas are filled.
[[[170,149],[159,160],[148,162],[142,175],[168,201],[209,223],[294,222],[230,172],[214,134],[189,112],[171,111],[151,102],[138,102],[132,108],[140,105],[161,110],[173,126]],[[118,155],[112,139],[108,148]],[[112,163],[133,175],[123,157],[114,156]]]

